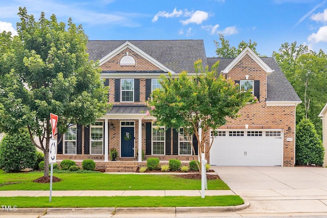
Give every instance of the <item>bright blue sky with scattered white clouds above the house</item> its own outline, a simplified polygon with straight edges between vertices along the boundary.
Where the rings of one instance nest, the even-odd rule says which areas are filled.
[[[0,32],[15,32],[19,6],[36,19],[72,17],[90,40],[203,39],[214,57],[222,33],[232,46],[257,42],[269,57],[294,41],[327,53],[327,0],[0,0]]]

